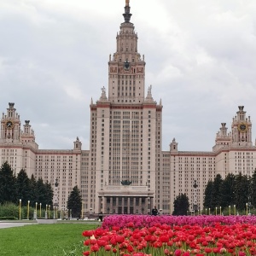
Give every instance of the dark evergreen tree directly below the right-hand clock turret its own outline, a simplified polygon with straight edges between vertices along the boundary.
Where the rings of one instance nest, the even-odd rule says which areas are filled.
[[[250,180],[247,175],[236,175],[235,183],[235,205],[237,210],[246,209],[248,201]]]

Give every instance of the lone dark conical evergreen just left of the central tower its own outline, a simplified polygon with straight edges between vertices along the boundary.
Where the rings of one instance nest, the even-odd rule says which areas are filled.
[[[75,186],[70,195],[68,195],[67,208],[72,210],[73,217],[80,217],[82,210],[82,196],[80,195],[78,186]]]

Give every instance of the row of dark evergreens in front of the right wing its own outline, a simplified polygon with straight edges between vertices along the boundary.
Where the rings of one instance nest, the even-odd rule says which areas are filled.
[[[204,207],[212,208],[236,205],[244,210],[246,204],[256,206],[256,170],[252,177],[229,173],[224,179],[218,174],[213,181],[207,183]]]

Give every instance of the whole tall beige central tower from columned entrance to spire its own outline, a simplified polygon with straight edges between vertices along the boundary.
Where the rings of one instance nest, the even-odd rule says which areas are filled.
[[[145,61],[137,52],[130,9],[125,0],[125,22],[108,61],[108,96],[103,87],[100,99],[90,104],[87,207],[95,212],[146,213],[156,196],[162,106],[154,102],[151,85],[145,97]]]

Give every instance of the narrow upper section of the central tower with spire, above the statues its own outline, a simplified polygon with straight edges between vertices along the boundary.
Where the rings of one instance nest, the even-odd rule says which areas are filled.
[[[129,1],[125,22],[116,37],[116,52],[108,62],[108,99],[114,103],[141,103],[144,99],[145,61],[137,52],[137,33],[130,22]]]

